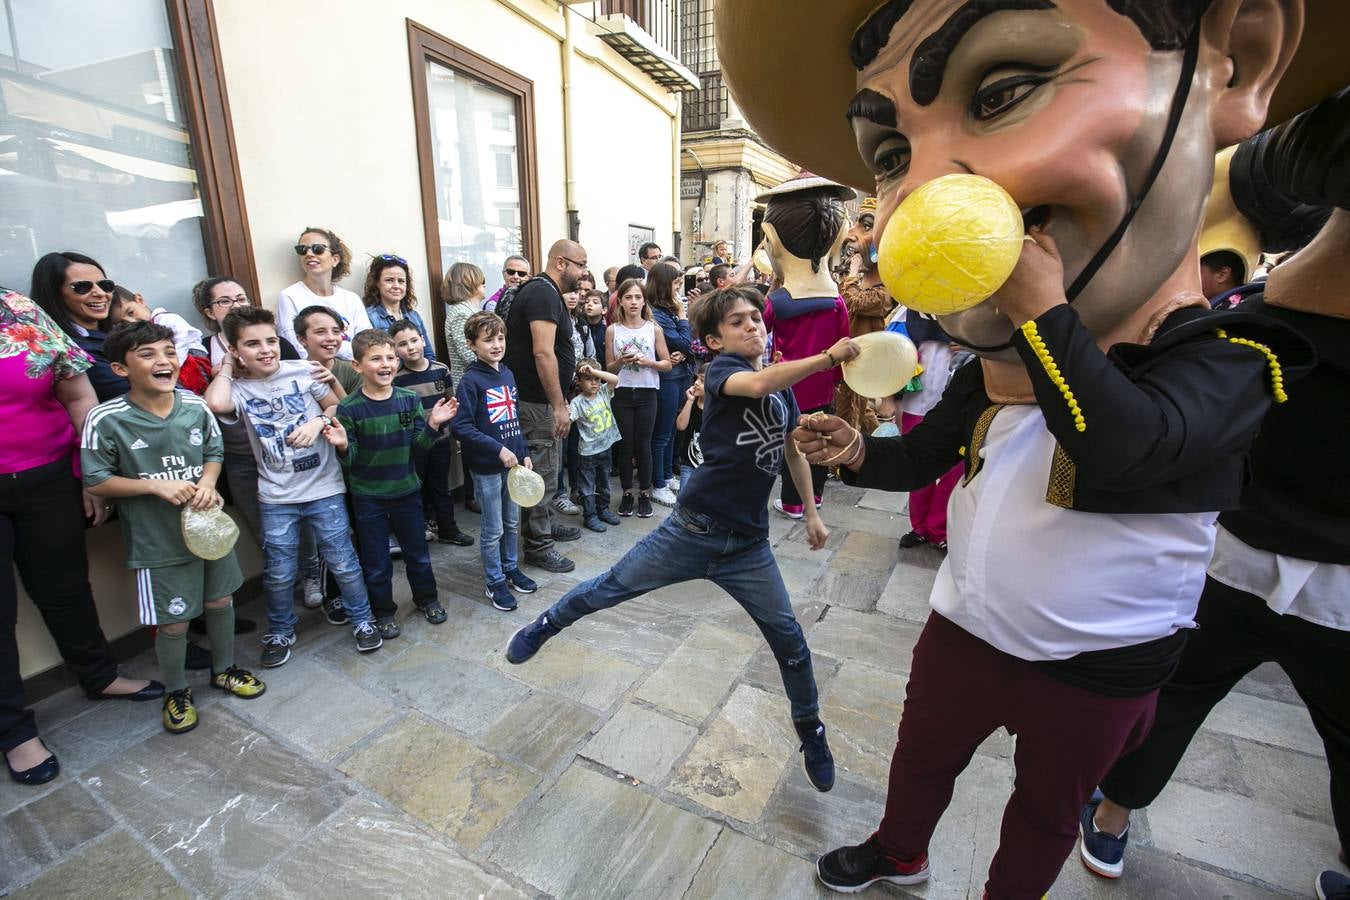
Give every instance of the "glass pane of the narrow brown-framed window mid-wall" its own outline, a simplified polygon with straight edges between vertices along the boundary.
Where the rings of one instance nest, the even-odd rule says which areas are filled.
[[[502,283],[506,256],[522,252],[516,96],[427,61],[441,271],[458,262]]]

